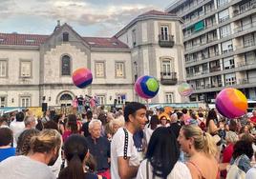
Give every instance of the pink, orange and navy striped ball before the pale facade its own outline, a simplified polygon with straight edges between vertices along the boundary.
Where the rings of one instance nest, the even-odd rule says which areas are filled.
[[[93,82],[93,75],[91,70],[80,68],[73,72],[72,79],[76,87],[84,89]]]

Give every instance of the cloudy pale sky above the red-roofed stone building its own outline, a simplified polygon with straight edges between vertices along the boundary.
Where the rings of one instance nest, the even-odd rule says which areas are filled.
[[[60,20],[81,36],[110,37],[139,14],[173,0],[0,0],[0,32],[51,34]]]

